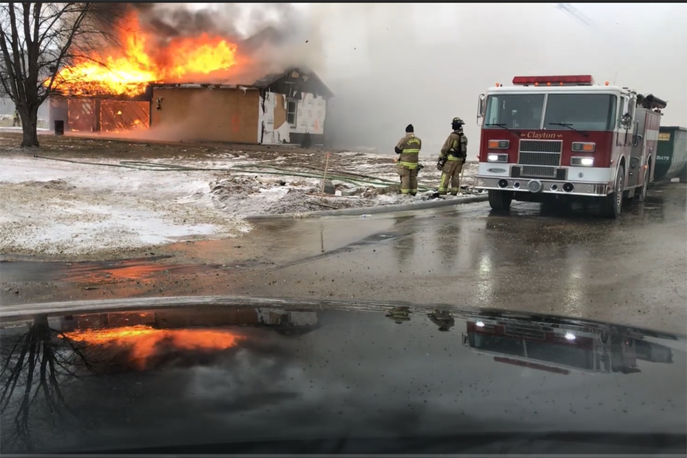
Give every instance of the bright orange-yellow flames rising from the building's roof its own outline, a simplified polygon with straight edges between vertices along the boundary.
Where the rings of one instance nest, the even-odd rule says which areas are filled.
[[[227,71],[238,60],[237,45],[210,34],[178,36],[159,43],[144,32],[136,13],[128,16],[122,30],[121,49],[110,49],[61,69],[55,89],[69,95],[139,95],[151,82],[188,82]]]

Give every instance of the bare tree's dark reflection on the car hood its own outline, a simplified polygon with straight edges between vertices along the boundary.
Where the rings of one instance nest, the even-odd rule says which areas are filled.
[[[78,344],[50,328],[47,316],[0,344],[0,450],[33,450],[33,424],[71,425],[76,418],[64,386],[92,371]],[[43,423],[45,421],[45,423]]]

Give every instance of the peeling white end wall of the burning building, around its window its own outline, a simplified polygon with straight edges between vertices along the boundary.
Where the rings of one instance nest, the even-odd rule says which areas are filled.
[[[287,100],[282,94],[265,92],[260,101],[262,113],[262,143],[280,144],[301,142],[304,134],[309,133],[313,144],[324,144],[324,120],[327,102],[321,96],[304,93],[296,103],[296,122],[290,125],[287,119]]]

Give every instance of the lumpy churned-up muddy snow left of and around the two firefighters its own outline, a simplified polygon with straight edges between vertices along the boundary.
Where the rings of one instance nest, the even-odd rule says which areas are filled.
[[[326,176],[336,194],[324,197],[321,192],[326,162],[322,152],[257,159],[255,154],[234,151],[215,154],[209,161],[176,157],[159,163],[222,170],[210,183],[210,196],[216,207],[234,216],[249,216],[410,203],[426,200],[433,194],[427,188],[436,189],[440,180],[440,172],[430,165],[433,159],[421,158],[426,166],[420,172],[418,184],[425,190],[420,190],[416,197],[400,194],[393,159],[389,154],[332,153]],[[476,172],[477,163],[467,163],[462,185],[471,187]]]

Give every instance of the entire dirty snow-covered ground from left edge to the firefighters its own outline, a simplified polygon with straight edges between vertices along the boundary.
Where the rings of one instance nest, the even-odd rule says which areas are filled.
[[[181,240],[240,236],[251,230],[245,220],[251,214],[388,205],[412,199],[398,195],[397,190],[339,181],[334,181],[337,196],[323,199],[321,180],[315,177],[242,172],[237,166],[256,163],[244,154],[216,154],[206,161],[188,157],[149,161],[215,169],[164,171],[114,166],[122,165],[114,159],[69,158],[83,162],[72,163],[11,151],[5,154],[9,155],[0,156],[3,253],[116,256]],[[352,154],[360,153],[340,156],[345,159]],[[370,161],[391,161],[388,156],[369,156]],[[289,168],[289,162],[287,157],[270,161],[284,168]],[[381,168],[379,163],[358,162],[356,173],[398,181],[391,164]],[[427,183],[438,182],[438,172],[433,174]],[[357,195],[344,196],[343,191]]]

